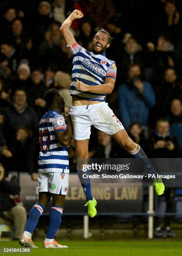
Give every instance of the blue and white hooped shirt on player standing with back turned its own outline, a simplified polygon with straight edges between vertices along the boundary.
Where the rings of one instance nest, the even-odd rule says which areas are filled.
[[[40,155],[38,172],[69,173],[68,147],[57,141],[55,133],[66,131],[65,118],[57,111],[47,111],[40,120]]]

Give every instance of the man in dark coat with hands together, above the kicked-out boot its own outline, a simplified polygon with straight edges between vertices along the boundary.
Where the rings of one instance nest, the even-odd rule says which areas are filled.
[[[170,133],[170,123],[165,118],[160,118],[152,134],[154,158],[178,158],[182,154],[179,142]]]

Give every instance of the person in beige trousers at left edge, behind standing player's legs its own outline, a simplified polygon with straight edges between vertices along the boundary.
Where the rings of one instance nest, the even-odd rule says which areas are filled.
[[[0,163],[0,212],[1,223],[13,223],[13,240],[19,240],[27,221],[27,212],[20,201],[20,185],[17,177],[5,172]],[[9,221],[8,221],[9,220]]]

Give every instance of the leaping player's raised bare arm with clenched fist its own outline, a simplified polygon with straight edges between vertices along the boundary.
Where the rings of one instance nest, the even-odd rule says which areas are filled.
[[[69,31],[69,28],[75,19],[80,19],[83,17],[83,13],[80,10],[74,10],[70,16],[62,23],[60,27],[61,35],[65,39],[66,44],[72,45],[75,43],[75,38]]]

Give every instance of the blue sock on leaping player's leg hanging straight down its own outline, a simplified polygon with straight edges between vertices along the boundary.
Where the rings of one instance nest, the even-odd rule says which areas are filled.
[[[80,179],[82,188],[85,192],[87,201],[93,200],[92,192],[91,192],[91,185],[90,185],[90,178],[83,179],[83,177],[82,177],[83,174],[90,174],[89,170],[87,170],[86,172],[83,172],[82,169],[77,169],[77,173],[78,173],[78,177]]]

